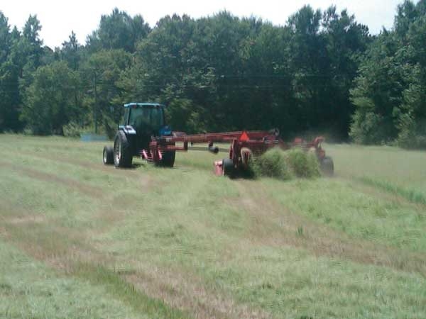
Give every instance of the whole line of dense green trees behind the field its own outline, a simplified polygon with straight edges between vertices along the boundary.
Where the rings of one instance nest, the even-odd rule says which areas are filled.
[[[279,128],[426,147],[426,0],[371,35],[348,11],[303,6],[283,26],[227,11],[151,28],[114,9],[80,44],[43,45],[0,11],[0,131],[113,135],[130,101],[168,106],[175,130]]]

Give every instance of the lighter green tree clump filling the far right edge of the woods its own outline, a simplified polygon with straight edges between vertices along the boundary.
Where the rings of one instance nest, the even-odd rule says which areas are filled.
[[[398,6],[394,28],[368,48],[351,90],[356,142],[426,147],[426,1]]]

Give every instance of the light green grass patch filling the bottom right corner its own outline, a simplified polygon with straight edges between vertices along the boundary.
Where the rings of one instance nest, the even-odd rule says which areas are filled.
[[[277,318],[426,315],[423,280],[415,274],[312,257],[288,247],[258,246],[249,254],[236,252],[234,259],[217,264],[208,274],[209,280],[239,300],[256,303]]]

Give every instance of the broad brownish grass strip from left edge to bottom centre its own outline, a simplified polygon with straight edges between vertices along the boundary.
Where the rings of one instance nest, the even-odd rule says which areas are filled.
[[[65,228],[55,217],[43,217],[31,208],[20,210],[13,208],[13,203],[1,202],[10,208],[6,209],[9,213],[0,216],[5,225],[4,231],[0,228],[1,237],[62,274],[92,280],[92,276],[99,277],[97,269],[100,267],[107,271],[105,277],[108,280],[128,282],[129,288],[126,289],[134,289],[134,298],[139,298],[136,296],[142,293],[172,309],[189,313],[192,318],[271,318],[263,310],[237,303],[227,293],[208,288],[195,274],[133,261],[128,255],[102,252],[92,241],[92,230]],[[114,223],[111,216],[104,218],[107,223]],[[126,264],[126,269],[130,270],[123,271],[116,267],[117,264]],[[95,283],[108,284],[98,279]],[[130,296],[126,298],[133,300]]]

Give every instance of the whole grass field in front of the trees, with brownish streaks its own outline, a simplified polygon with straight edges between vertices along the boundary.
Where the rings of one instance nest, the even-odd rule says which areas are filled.
[[[0,135],[0,318],[426,318],[426,153],[326,145],[332,179],[102,165]]]

